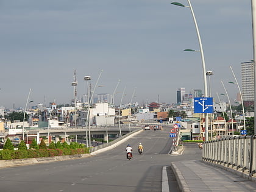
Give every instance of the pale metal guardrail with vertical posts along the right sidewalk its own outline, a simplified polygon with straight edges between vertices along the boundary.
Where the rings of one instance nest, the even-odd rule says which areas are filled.
[[[256,135],[221,138],[203,144],[202,160],[255,180]]]

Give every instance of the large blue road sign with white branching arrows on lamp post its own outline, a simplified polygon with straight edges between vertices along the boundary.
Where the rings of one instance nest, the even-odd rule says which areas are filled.
[[[213,98],[194,98],[194,113],[213,113]]]

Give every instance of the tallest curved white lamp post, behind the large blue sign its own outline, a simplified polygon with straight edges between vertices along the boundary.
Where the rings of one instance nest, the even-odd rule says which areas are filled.
[[[198,38],[200,52],[201,52],[202,69],[203,69],[203,77],[204,77],[204,96],[205,96],[205,98],[208,98],[206,69],[205,69],[205,60],[204,60],[204,50],[202,48],[202,41],[201,41],[201,37],[200,37],[198,26],[197,26],[197,22],[196,22],[196,17],[194,16],[193,7],[192,7],[192,5],[190,3],[190,0],[187,0],[187,1],[188,1],[189,6],[183,5],[183,4],[179,3],[179,2],[171,2],[171,4],[178,5],[180,7],[188,7],[191,10],[191,14],[192,14],[193,20],[194,20],[194,26],[196,27],[196,34],[197,34],[197,38]],[[188,50],[194,51],[192,49],[188,49]],[[205,113],[205,140],[208,141],[208,113]]]

